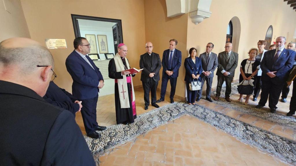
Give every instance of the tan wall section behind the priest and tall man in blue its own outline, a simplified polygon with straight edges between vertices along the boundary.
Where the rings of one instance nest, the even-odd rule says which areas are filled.
[[[145,29],[146,41],[153,43],[153,52],[160,55],[162,59],[163,51],[169,48],[169,40],[177,39],[178,45],[176,49],[182,51],[182,63],[179,70],[179,77],[177,80],[176,95],[184,97],[185,94],[185,68],[184,59],[187,57],[186,53],[186,37],[187,37],[187,17],[188,14],[183,14],[174,18],[166,16],[165,0],[145,0]],[[144,44],[142,43],[142,52],[145,53]],[[162,76],[162,69],[160,70],[160,80]],[[168,83],[167,91],[170,92],[170,83]],[[158,88],[161,86],[161,81]],[[157,96],[158,98],[159,96]]]

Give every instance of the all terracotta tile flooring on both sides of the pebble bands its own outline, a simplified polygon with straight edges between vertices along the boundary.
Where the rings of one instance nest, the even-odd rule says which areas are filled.
[[[154,109],[151,105],[144,110],[144,92],[142,88],[135,89],[136,109],[140,115]],[[157,91],[157,99],[160,92]],[[292,87],[287,97],[287,103],[278,103],[277,112],[286,114],[289,111],[289,102],[292,96]],[[237,100],[239,94],[230,98]],[[250,97],[249,105],[257,105]],[[170,104],[169,96],[165,101],[158,103],[159,106]],[[180,101],[175,99],[175,101]],[[97,121],[101,126],[116,124],[114,94],[99,97],[97,105]],[[214,111],[223,113],[245,123],[263,128],[279,136],[296,141],[294,130],[286,126],[263,120],[230,108],[225,108],[207,100],[200,100],[196,104],[203,105]],[[268,110],[268,103],[262,109]],[[292,118],[295,118],[293,116]],[[187,122],[186,123],[183,122]],[[190,123],[188,123],[190,121]],[[76,122],[83,134],[85,129],[81,113],[76,114]],[[258,152],[234,137],[217,130],[215,127],[204,123],[191,116],[184,116],[166,125],[160,126],[144,136],[139,136],[133,142],[112,149],[109,155],[105,154],[100,158],[102,165],[285,165],[277,159]]]

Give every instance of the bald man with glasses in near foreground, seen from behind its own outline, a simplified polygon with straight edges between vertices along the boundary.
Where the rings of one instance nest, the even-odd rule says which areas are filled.
[[[0,165],[95,165],[74,116],[42,98],[53,70],[36,41],[0,43]]]

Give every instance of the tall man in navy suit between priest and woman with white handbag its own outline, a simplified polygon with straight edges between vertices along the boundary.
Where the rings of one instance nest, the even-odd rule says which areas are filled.
[[[161,64],[163,65],[161,93],[160,99],[156,102],[165,101],[165,92],[168,85],[168,80],[170,80],[170,103],[174,103],[177,78],[182,61],[182,53],[176,49],[177,44],[178,41],[176,39],[171,39],[169,47],[170,49],[163,51],[163,59],[161,61]]]

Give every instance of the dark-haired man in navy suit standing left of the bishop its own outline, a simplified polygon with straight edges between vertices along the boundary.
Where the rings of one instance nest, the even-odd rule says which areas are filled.
[[[73,79],[72,94],[82,101],[81,115],[87,136],[100,138],[96,131],[105,130],[96,122],[96,104],[99,89],[104,86],[104,80],[99,68],[87,55],[90,53],[90,44],[86,38],[75,38],[75,50],[66,59],[67,71]]]

